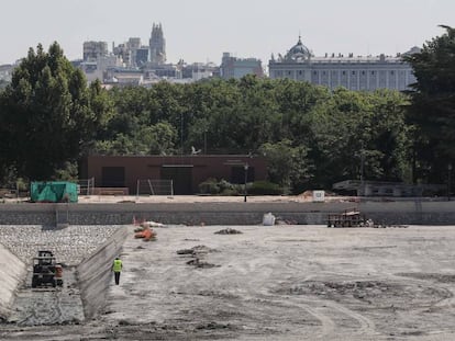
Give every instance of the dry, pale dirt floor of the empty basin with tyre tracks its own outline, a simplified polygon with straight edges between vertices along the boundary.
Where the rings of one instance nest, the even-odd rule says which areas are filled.
[[[226,228],[131,226],[99,317],[0,339],[455,340],[454,226]]]

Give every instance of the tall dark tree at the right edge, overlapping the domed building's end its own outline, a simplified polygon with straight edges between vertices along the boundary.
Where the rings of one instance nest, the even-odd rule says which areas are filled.
[[[417,82],[412,84],[408,122],[414,126],[414,181],[443,182],[455,161],[455,29],[426,42],[404,57]]]

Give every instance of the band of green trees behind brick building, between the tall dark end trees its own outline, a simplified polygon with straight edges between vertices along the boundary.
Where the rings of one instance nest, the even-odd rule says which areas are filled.
[[[253,154],[291,192],[358,179],[410,179],[407,96],[246,76],[110,91],[115,113],[95,154]]]

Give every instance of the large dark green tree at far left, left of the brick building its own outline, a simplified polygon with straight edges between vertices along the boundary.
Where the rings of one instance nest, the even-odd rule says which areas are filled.
[[[0,135],[5,162],[18,175],[46,180],[74,162],[91,144],[107,106],[99,83],[90,89],[57,43],[38,45],[15,68],[2,93]],[[92,106],[93,104],[93,106]]]

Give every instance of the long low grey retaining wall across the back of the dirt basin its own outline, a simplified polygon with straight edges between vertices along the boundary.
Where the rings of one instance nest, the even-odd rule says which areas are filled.
[[[0,225],[124,225],[133,217],[164,224],[257,225],[265,213],[296,224],[325,224],[329,213],[358,208],[385,224],[455,225],[455,202],[333,202],[333,203],[115,203],[115,204],[4,204]]]

